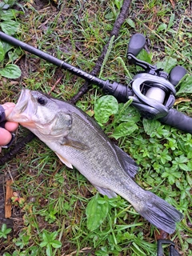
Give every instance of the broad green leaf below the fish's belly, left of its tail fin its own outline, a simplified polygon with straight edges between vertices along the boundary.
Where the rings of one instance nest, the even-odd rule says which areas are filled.
[[[87,228],[94,231],[102,224],[108,214],[109,203],[99,203],[98,194],[86,206]]]

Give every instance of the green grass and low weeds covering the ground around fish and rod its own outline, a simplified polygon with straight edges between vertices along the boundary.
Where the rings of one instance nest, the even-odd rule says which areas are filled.
[[[62,3],[58,0],[56,3],[39,1],[37,5],[33,1],[19,1],[19,4],[25,13],[17,18],[20,23],[18,37],[22,41],[90,72],[109,38],[122,1]],[[169,1],[132,1],[130,17],[122,25],[118,38],[111,42],[101,78],[122,83],[130,81],[136,68],[128,66],[126,61],[127,42],[131,34],[138,32],[145,34],[150,41],[147,58],[167,70],[177,62],[186,68],[186,77],[190,79],[190,30],[190,2],[178,0],[173,9]],[[48,93],[63,74],[52,96],[69,100],[82,86],[81,78],[34,55],[22,52],[16,62],[22,70],[22,77],[18,83],[3,78],[1,102],[16,102],[22,87]],[[185,90],[185,83],[183,85],[177,87],[181,102],[174,107],[191,116],[191,104],[185,101],[191,98],[191,90]],[[101,113],[105,115],[105,111],[97,109],[101,96],[101,90],[93,86],[77,106],[90,115],[96,112],[97,116],[97,111],[100,116]],[[138,184],[183,212],[185,218],[178,223],[170,239],[182,255],[192,255],[191,135],[163,126],[158,121],[142,121],[131,106],[123,108],[117,102],[114,105],[118,112],[105,122],[99,120],[102,129],[115,139],[119,135],[118,126],[132,122],[135,130],[120,133],[118,145],[138,162]],[[122,115],[123,111],[128,118]],[[26,130],[19,127],[17,138],[23,134]],[[0,240],[5,255],[157,254],[155,239],[158,231],[154,226],[135,213],[124,199],[107,199],[98,195],[86,178],[77,170],[63,166],[38,139],[26,145],[21,154],[0,170],[17,170],[13,188],[18,198],[24,198],[24,202],[15,202],[13,206],[14,240]],[[108,211],[102,224],[90,231],[86,210],[93,194]],[[6,234],[5,230],[3,234]]]

